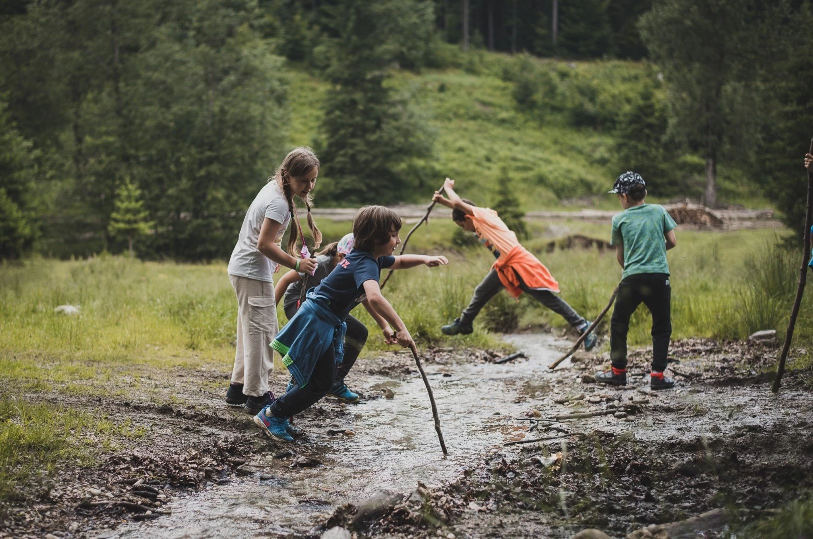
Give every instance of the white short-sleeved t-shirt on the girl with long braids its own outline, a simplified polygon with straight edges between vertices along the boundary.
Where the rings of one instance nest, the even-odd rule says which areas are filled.
[[[282,235],[291,220],[291,212],[285,195],[276,186],[276,180],[269,181],[259,190],[249,211],[246,211],[240,237],[232,251],[232,258],[228,261],[229,275],[273,282],[273,275],[279,269],[279,264],[257,250],[259,230],[266,217],[282,224],[280,232],[274,238],[276,245],[281,246]]]

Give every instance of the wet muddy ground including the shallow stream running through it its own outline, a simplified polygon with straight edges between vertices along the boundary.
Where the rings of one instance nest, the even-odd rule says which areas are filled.
[[[93,467],[63,465],[11,508],[0,537],[319,537],[334,524],[359,537],[624,537],[715,508],[759,518],[813,486],[813,373],[772,394],[776,349],[677,342],[678,387],[651,393],[646,349],[631,354],[630,383],[610,389],[590,381],[606,354],[550,372],[567,339],[506,339],[527,358],[426,351],[448,458],[403,353],[360,360],[347,381],[362,402],[324,399],[295,419],[304,433],[291,445],[224,406],[228,373],[212,368],[145,372],[160,402],[28,395],[149,431]],[[603,415],[562,417],[587,412]],[[506,445],[534,438],[546,439]],[[380,489],[393,496],[365,513],[359,502]]]

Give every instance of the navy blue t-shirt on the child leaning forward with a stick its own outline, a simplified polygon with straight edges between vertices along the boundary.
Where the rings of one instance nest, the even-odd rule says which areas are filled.
[[[373,258],[367,251],[354,249],[344,260],[336,264],[333,272],[325,277],[314,290],[330,300],[330,308],[341,319],[363,302],[365,280],[379,280],[381,269],[395,263],[394,256]]]

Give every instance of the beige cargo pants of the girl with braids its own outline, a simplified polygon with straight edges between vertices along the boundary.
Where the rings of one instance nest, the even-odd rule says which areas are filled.
[[[237,353],[232,381],[243,384],[243,394],[266,393],[268,375],[274,367],[271,341],[276,337],[274,283],[248,277],[228,276],[237,294]]]

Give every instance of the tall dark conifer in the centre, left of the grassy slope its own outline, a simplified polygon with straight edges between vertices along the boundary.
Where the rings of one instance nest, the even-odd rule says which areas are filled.
[[[326,179],[320,196],[337,202],[398,202],[428,180],[433,133],[384,84],[393,61],[420,54],[432,5],[423,0],[342,0],[324,102]],[[419,181],[415,181],[416,176]]]

